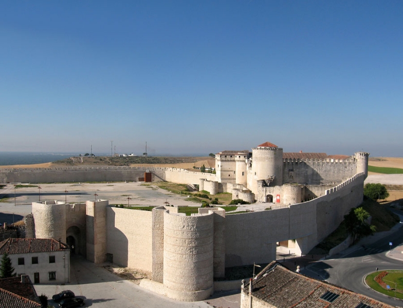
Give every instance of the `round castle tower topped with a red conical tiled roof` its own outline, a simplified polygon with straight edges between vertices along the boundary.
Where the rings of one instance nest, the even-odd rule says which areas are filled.
[[[255,180],[267,180],[274,176],[270,186],[283,184],[283,149],[265,142],[252,149],[252,172]]]

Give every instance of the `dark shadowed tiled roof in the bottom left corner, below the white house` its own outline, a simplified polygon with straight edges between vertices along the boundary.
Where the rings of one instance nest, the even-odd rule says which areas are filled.
[[[0,306],[7,308],[36,308],[41,302],[29,276],[0,279]]]

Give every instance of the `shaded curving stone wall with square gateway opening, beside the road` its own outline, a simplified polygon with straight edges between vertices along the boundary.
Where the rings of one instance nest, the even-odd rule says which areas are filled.
[[[226,267],[276,259],[276,242],[296,239],[306,254],[332,233],[350,208],[362,202],[365,175],[358,174],[316,199],[225,218]]]

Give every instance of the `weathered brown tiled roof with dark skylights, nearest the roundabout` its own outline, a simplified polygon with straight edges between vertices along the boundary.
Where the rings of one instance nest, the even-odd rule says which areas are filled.
[[[368,296],[319,281],[290,271],[285,266],[271,262],[252,282],[252,296],[268,303],[270,307],[356,307],[359,303],[373,308],[392,308]],[[242,292],[248,292],[249,284]],[[327,291],[339,295],[333,302],[320,297]]]

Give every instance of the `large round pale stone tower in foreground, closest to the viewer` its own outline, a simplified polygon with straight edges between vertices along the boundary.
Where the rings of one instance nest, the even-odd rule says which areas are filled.
[[[166,296],[204,300],[213,293],[213,214],[164,213],[163,284]]]

